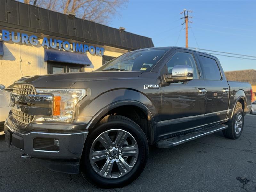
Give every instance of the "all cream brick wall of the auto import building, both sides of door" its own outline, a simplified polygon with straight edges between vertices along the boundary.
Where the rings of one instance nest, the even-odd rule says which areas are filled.
[[[104,46],[104,55],[118,57],[127,50]],[[92,65],[85,71],[102,66],[102,56],[86,53]],[[23,74],[23,75],[22,75]],[[9,86],[22,76],[47,74],[47,62],[44,62],[44,48],[38,46],[4,42],[4,57],[0,57],[0,84]]]

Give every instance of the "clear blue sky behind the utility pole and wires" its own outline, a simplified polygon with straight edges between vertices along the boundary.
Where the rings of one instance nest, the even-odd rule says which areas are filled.
[[[188,46],[255,56],[219,56],[224,71],[256,70],[256,1],[130,0],[109,26],[152,38],[155,47],[185,47],[183,9],[192,10]],[[194,33],[194,34],[193,34]],[[200,51],[200,50],[199,50]],[[205,51],[206,52],[206,51]],[[213,52],[209,52],[213,53]],[[216,53],[216,52],[215,52]],[[217,53],[223,54],[223,53]]]

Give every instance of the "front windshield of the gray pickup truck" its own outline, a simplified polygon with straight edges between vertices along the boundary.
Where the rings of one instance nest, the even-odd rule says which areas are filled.
[[[150,71],[169,49],[129,52],[113,59],[96,71]]]

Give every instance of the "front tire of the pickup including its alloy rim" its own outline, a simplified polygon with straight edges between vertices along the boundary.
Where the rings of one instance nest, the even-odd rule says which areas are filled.
[[[120,135],[122,136],[119,137]],[[119,140],[118,138],[126,137],[127,139],[125,139],[123,144],[121,143],[124,139],[117,141]],[[111,140],[106,138],[110,138]],[[110,147],[107,149],[109,145],[105,141],[108,141],[108,144],[112,141],[111,150]],[[102,144],[104,142],[105,147]],[[118,143],[120,145],[116,148]],[[132,146],[132,149],[127,146]],[[130,148],[130,150],[128,150],[128,148]],[[122,152],[120,152],[120,150]],[[96,158],[95,152],[101,153],[100,155],[103,159],[94,163],[92,160],[100,157],[99,154],[97,154]],[[107,153],[109,154],[107,155]],[[116,153],[117,156],[119,155],[118,159]],[[131,156],[127,155],[127,157],[125,154]],[[97,186],[102,188],[118,188],[134,181],[144,170],[147,160],[148,141],[140,126],[127,117],[108,115],[97,124],[96,128],[91,130],[91,132],[89,131],[80,163],[82,172],[85,173],[87,179],[92,180]],[[124,161],[128,162],[128,164]],[[132,166],[132,168],[130,166]],[[105,167],[108,168],[104,169]],[[110,168],[111,171],[109,171]]]

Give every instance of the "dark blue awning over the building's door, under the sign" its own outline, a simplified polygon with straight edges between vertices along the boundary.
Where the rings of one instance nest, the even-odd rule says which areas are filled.
[[[74,53],[68,51],[58,51],[54,49],[44,49],[44,61],[55,61],[61,63],[74,63],[81,65],[91,65],[87,55],[84,53]]]

